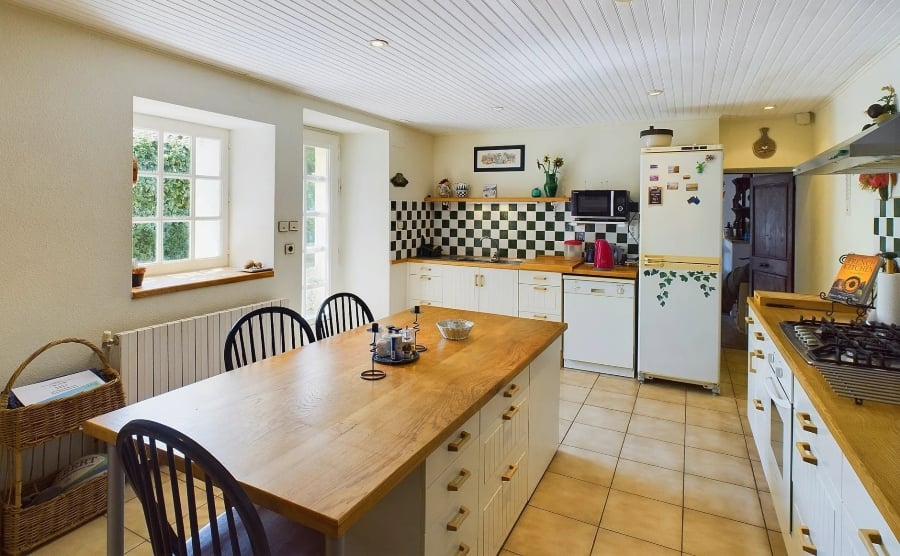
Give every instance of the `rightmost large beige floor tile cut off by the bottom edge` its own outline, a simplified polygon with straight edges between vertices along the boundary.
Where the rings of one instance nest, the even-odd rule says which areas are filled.
[[[694,556],[770,556],[762,527],[684,509],[684,552]]]

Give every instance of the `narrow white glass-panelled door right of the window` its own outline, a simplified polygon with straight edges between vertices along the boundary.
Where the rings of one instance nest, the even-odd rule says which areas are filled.
[[[304,130],[303,145],[303,316],[315,318],[331,291],[334,264],[334,218],[339,140],[335,135]]]

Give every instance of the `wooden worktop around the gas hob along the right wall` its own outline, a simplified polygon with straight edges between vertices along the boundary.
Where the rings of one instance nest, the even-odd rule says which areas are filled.
[[[865,401],[835,394],[822,375],[800,356],[778,325],[800,316],[822,317],[830,303],[817,296],[758,292],[750,306],[819,411],[841,451],[895,536],[900,538],[900,405]],[[839,307],[838,320],[851,320],[855,312]]]

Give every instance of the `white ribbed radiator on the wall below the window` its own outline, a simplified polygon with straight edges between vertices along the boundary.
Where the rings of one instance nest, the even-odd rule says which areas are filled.
[[[110,364],[122,375],[129,404],[174,390],[225,370],[225,337],[231,325],[260,307],[286,306],[273,299],[146,328],[119,332]]]

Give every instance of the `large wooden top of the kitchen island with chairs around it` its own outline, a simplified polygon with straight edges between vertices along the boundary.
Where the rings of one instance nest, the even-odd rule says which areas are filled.
[[[465,341],[435,322],[465,318]],[[382,326],[412,323],[403,311]],[[368,382],[372,334],[360,327],[91,419],[115,442],[128,421],[176,427],[210,450],[257,504],[339,536],[546,349],[565,323],[428,307],[415,363]]]

